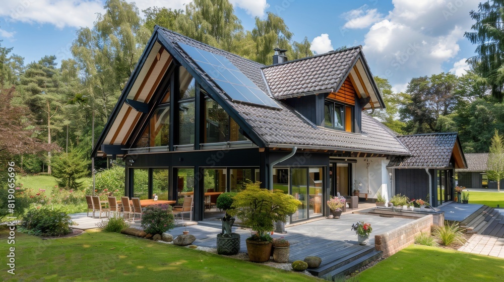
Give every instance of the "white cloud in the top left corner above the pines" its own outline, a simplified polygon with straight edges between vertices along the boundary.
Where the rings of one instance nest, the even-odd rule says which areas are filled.
[[[64,27],[92,26],[96,13],[103,13],[99,0],[13,0],[4,1],[0,16],[9,22],[52,24]]]

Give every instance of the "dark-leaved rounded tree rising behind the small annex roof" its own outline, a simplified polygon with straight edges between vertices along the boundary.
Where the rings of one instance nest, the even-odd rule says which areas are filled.
[[[461,101],[458,79],[450,73],[411,79],[406,89],[404,107],[400,109],[408,133],[440,132],[446,117],[452,114]],[[445,122],[438,124],[440,116]]]

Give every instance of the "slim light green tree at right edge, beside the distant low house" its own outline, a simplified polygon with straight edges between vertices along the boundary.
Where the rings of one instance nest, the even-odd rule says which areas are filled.
[[[486,165],[488,179],[497,181],[497,191],[500,191],[500,180],[504,179],[504,136],[495,129]]]

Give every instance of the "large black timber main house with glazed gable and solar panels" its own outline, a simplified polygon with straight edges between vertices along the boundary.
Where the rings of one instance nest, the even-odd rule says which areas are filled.
[[[197,221],[246,179],[299,199],[290,222],[328,215],[354,183],[392,195],[389,160],[411,154],[366,113],[385,105],[362,48],[276,51],[266,66],[156,27],[92,156],[125,160],[126,195],[194,195]]]

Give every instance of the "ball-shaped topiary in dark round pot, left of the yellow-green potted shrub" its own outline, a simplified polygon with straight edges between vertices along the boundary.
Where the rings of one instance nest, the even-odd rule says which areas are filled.
[[[217,234],[217,253],[220,255],[235,255],[240,251],[240,234],[232,232],[235,218],[228,214],[228,211],[232,209],[235,195],[234,192],[222,193],[216,201],[217,208],[226,212],[222,218],[222,232]]]

